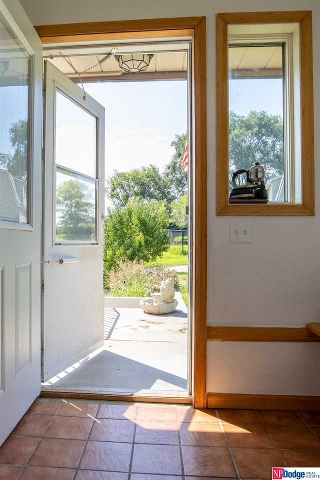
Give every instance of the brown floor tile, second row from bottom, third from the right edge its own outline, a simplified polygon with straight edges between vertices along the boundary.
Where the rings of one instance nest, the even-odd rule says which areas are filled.
[[[182,446],[182,458],[185,475],[236,476],[227,448]]]

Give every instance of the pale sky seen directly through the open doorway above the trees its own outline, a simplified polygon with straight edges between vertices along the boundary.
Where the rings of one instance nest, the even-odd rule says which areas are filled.
[[[84,83],[105,108],[105,174],[153,163],[160,170],[174,152],[175,134],[187,130],[187,82]]]

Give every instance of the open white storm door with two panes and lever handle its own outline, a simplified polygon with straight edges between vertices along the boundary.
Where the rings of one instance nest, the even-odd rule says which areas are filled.
[[[104,108],[44,67],[43,380],[103,345]]]

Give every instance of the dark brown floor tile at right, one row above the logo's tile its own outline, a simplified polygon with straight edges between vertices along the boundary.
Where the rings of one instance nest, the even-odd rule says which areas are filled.
[[[267,425],[267,430],[278,448],[299,448],[302,450],[320,450],[320,442],[307,426]],[[319,452],[320,457],[320,452]]]

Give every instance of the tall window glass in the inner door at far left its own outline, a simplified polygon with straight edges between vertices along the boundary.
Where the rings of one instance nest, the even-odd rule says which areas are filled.
[[[0,15],[0,220],[28,222],[30,56]]]

